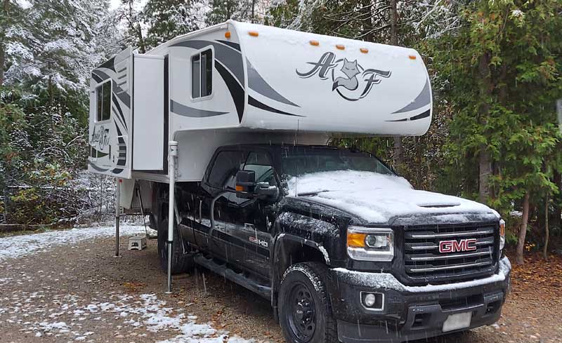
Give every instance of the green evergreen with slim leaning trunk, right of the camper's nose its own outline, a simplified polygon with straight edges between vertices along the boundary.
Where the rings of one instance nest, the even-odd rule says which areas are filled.
[[[504,213],[521,204],[518,263],[531,203],[559,187],[552,178],[561,167],[554,112],[562,90],[561,11],[556,0],[476,1],[459,31],[433,51],[455,112],[449,172],[465,195]]]

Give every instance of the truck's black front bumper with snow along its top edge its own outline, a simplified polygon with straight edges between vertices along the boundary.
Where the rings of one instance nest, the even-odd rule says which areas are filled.
[[[332,311],[344,343],[404,342],[443,335],[451,314],[471,312],[468,328],[495,323],[509,292],[511,264],[499,261],[499,271],[476,281],[412,287],[392,274],[336,268],[329,273]],[[360,292],[384,293],[384,307],[366,309]]]

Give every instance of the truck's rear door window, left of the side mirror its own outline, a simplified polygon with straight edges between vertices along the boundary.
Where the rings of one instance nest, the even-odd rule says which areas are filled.
[[[244,166],[247,154],[247,152],[219,152],[209,173],[208,183],[213,187],[234,190],[236,172]]]

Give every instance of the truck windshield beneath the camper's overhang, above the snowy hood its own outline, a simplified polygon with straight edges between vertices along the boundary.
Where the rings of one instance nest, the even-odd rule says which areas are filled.
[[[292,152],[287,149],[283,152],[281,161],[283,174],[289,177],[335,170],[360,170],[394,175],[376,157],[348,150],[306,149]]]

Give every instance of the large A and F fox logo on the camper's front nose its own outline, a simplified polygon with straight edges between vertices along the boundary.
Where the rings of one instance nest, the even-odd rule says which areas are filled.
[[[388,78],[390,71],[379,69],[365,69],[357,60],[347,58],[336,59],[332,52],[324,53],[318,62],[306,62],[308,69],[296,74],[303,79],[317,75],[322,80],[332,79],[332,90],[349,101],[356,101],[366,97],[374,85],[381,83],[378,76]]]

